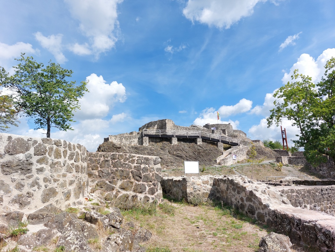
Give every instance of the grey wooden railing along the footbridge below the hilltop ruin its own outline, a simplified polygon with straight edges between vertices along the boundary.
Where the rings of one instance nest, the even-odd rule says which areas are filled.
[[[189,137],[198,137],[198,138],[209,138],[209,140],[218,140],[219,142],[225,141],[230,143],[237,143],[240,144],[240,139],[237,138],[231,138],[224,135],[217,135],[217,134],[211,134],[207,132],[201,132],[201,131],[179,131],[179,130],[151,130],[151,129],[144,129],[143,134],[146,135],[157,135],[159,137],[163,136],[171,136],[174,137],[177,136],[185,136],[186,138]]]

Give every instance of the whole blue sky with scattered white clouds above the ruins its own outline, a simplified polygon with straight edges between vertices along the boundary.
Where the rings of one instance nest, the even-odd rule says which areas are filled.
[[[90,151],[152,120],[216,123],[217,110],[252,139],[280,139],[265,120],[274,90],[296,68],[320,81],[335,57],[333,0],[0,0],[0,7],[0,66],[12,72],[24,52],[73,70],[78,83],[89,80],[74,131],[51,137]],[[295,139],[290,124],[283,121]],[[45,136],[34,128],[21,118],[10,133]]]

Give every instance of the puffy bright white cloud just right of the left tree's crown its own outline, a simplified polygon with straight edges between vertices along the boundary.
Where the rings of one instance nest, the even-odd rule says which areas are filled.
[[[80,99],[80,110],[75,112],[78,118],[103,118],[107,116],[115,102],[126,100],[126,88],[122,83],[113,81],[108,84],[101,75],[96,74],[86,77],[86,81],[89,93],[85,93]]]

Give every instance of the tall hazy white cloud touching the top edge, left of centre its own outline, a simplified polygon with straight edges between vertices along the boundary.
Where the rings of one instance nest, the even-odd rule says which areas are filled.
[[[117,5],[123,0],[65,0],[79,28],[90,39],[95,55],[115,46],[119,22]]]

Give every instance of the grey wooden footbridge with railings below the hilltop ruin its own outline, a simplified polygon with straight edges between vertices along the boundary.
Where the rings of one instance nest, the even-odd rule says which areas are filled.
[[[210,134],[201,131],[174,131],[174,130],[143,130],[143,137],[166,137],[166,138],[201,138],[217,143],[240,145],[240,139],[231,138],[224,135]]]

